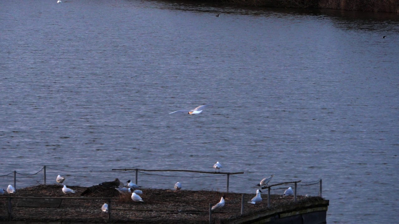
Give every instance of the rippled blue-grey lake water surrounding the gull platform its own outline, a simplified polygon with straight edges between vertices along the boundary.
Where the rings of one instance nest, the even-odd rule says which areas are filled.
[[[0,187],[43,165],[47,183],[90,186],[134,179],[111,169],[219,161],[244,172],[230,177],[234,192],[255,193],[272,173],[322,179],[328,223],[399,215],[397,14],[56,2],[0,1]],[[201,104],[213,106],[168,114]],[[226,176],[139,173],[144,187],[176,181],[225,191]]]

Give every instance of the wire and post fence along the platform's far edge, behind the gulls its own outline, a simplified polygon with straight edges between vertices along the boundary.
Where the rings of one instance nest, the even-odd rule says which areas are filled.
[[[198,190],[198,187],[202,187],[202,189],[209,189],[211,191],[225,191],[229,192],[229,187],[233,187],[234,189],[242,188],[243,181],[248,182],[247,177],[242,177],[237,174],[243,174],[243,172],[235,172],[235,173],[225,173],[225,172],[207,172],[207,171],[190,171],[190,170],[148,170],[148,169],[112,169],[112,170],[66,170],[60,169],[54,166],[43,166],[39,171],[35,173],[22,173],[18,171],[13,171],[4,175],[0,175],[0,183],[9,183],[13,185],[15,189],[17,187],[28,187],[37,184],[53,184],[57,183],[55,181],[57,174],[64,173],[67,179],[71,180],[69,182],[65,181],[65,183],[74,183],[75,185],[88,184],[95,185],[98,183],[93,183],[94,177],[97,177],[96,173],[106,173],[105,177],[109,176],[109,180],[115,179],[115,176],[125,176],[126,179],[132,179],[134,175],[134,179],[132,182],[150,186],[150,188],[164,188],[166,181],[162,181],[159,185],[154,185],[157,183],[161,177],[162,180],[170,179],[170,188],[173,188],[174,183],[188,183],[186,186],[195,187]],[[176,175],[176,173],[184,173],[182,175]],[[190,174],[188,174],[190,173]],[[79,174],[79,180],[77,174]],[[217,176],[215,178],[215,175]],[[41,176],[41,177],[40,177]],[[48,179],[47,176],[51,177]],[[63,175],[61,175],[63,176]],[[232,181],[230,181],[230,177]],[[85,179],[86,181],[82,181]],[[196,181],[196,179],[200,179],[200,181]],[[176,181],[173,181],[176,180]],[[80,183],[79,183],[80,182]],[[103,181],[99,181],[103,182]],[[190,184],[195,183],[198,184]],[[230,183],[231,182],[231,183]],[[206,185],[205,183],[212,183],[212,185]],[[270,182],[269,185],[272,185],[273,182]],[[296,183],[296,192],[298,195],[308,195],[308,196],[321,196],[322,195],[322,181],[308,181],[308,182],[297,182]],[[70,185],[70,184],[69,184]],[[7,185],[8,186],[8,185]],[[0,186],[2,188],[3,186]],[[4,186],[6,187],[6,186]],[[257,186],[252,185],[251,187],[256,188]],[[282,195],[284,191],[288,188],[292,187],[294,189],[295,183],[285,183],[278,186],[273,186],[270,188],[271,194],[273,195]],[[186,187],[185,189],[190,189]],[[255,190],[254,190],[255,191]]]

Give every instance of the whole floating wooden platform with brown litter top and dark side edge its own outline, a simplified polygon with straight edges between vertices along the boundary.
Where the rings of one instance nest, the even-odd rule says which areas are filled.
[[[293,196],[265,194],[262,202],[250,204],[255,194],[171,189],[142,189],[144,202],[133,202],[130,194],[119,195],[115,189],[80,197],[85,187],[68,187],[77,193],[64,195],[59,185],[38,185],[0,196],[0,222],[322,224],[329,203],[319,196],[296,196],[294,202]],[[223,195],[225,206],[209,212],[209,204]],[[109,213],[101,211],[103,203],[110,204]]]

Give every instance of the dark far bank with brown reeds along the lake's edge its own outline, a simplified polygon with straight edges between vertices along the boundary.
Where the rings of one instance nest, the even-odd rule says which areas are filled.
[[[399,13],[397,0],[209,0],[229,5]]]

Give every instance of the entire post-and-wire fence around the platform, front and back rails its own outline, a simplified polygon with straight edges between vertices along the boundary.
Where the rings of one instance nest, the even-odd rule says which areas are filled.
[[[23,172],[18,172],[18,171],[13,171],[10,173],[7,173],[5,175],[0,175],[0,183],[4,183],[7,181],[4,180],[12,180],[14,183],[14,187],[15,189],[17,189],[17,186],[22,185],[22,186],[26,186],[27,183],[30,180],[30,182],[32,181],[36,181],[37,184],[53,184],[56,183],[55,179],[57,177],[57,173],[67,173],[67,175],[69,175],[69,177],[72,176],[76,176],[76,173],[80,173],[80,177],[82,176],[87,176],[87,178],[89,179],[93,179],[93,176],[97,176],[96,173],[111,173],[115,176],[115,174],[117,173],[118,175],[125,175],[127,177],[133,177],[134,179],[132,180],[132,182],[135,182],[136,184],[138,184],[138,182],[140,181],[141,183],[145,183],[145,181],[147,179],[155,179],[155,180],[159,180],[162,179],[161,183],[164,182],[165,179],[179,179],[179,180],[186,180],[186,183],[188,182],[193,182],[194,179],[200,179],[202,182],[205,183],[213,183],[214,185],[216,185],[216,189],[211,189],[211,191],[223,191],[223,192],[229,192],[229,177],[232,177],[232,185],[236,186],[236,185],[242,185],[243,181],[248,182],[247,177],[242,177],[238,174],[243,174],[243,172],[235,172],[235,173],[223,173],[223,172],[207,172],[207,171],[190,171],[190,170],[148,170],[148,169],[113,169],[113,170],[104,170],[104,171],[93,171],[93,170],[74,170],[74,171],[70,171],[70,170],[66,170],[66,169],[59,169],[57,167],[51,167],[51,166],[43,166],[39,171],[35,172],[35,173],[23,173]],[[94,175],[87,175],[88,173],[93,174]],[[180,174],[181,173],[181,174]],[[180,175],[179,175],[180,174]],[[215,175],[218,178],[215,178]],[[47,179],[47,176],[51,177],[50,180]],[[132,178],[131,178],[132,179]],[[97,179],[95,179],[97,181]],[[198,181],[198,182],[201,182]],[[102,181],[101,181],[102,182]],[[170,181],[172,183],[172,181]],[[184,182],[184,181],[182,181]],[[10,183],[10,182],[8,182]],[[98,184],[98,183],[96,183]],[[221,187],[223,186],[223,187]],[[225,187],[224,187],[225,186]],[[1,187],[1,186],[0,186]],[[259,186],[256,186],[255,184],[253,184],[252,186],[254,188],[260,189]],[[294,194],[292,195],[292,200],[293,202],[296,202],[297,200],[297,195],[306,195],[306,196],[322,196],[322,180],[318,180],[318,181],[290,181],[290,182],[283,182],[283,183],[273,183],[273,182],[269,182],[269,185],[266,187],[262,187],[262,191],[263,191],[263,196],[265,199],[267,198],[267,206],[270,207],[271,206],[271,198],[273,199],[273,196],[271,195],[275,195],[274,197],[278,196],[278,195],[282,195],[284,193],[284,191],[288,188],[291,187],[292,190],[294,191]],[[161,187],[162,188],[162,187]],[[187,189],[187,188],[186,188]],[[198,190],[198,189],[197,189]],[[18,190],[16,191],[18,193]],[[267,196],[266,196],[267,194]],[[0,198],[3,198],[2,200],[6,200],[4,201],[4,206],[6,206],[6,210],[4,210],[4,217],[5,215],[8,216],[8,220],[12,220],[12,214],[16,214],[15,212],[12,212],[12,206],[15,206],[15,204],[13,205],[11,200],[15,200],[14,198],[17,196],[17,198],[21,198],[21,200],[28,200],[28,199],[32,199],[32,200],[40,200],[40,199],[35,199],[35,197],[20,197],[17,195],[13,195],[13,194],[5,194],[3,196],[0,196]],[[57,200],[59,198],[56,197],[51,197],[51,200]],[[303,197],[302,197],[303,198]],[[82,198],[68,198],[68,199],[76,199],[76,200],[80,200]],[[101,200],[107,200],[109,202],[109,204],[111,204],[111,200],[115,200],[117,198],[91,198],[91,200],[96,200],[96,199],[101,199]],[[43,200],[43,198],[42,198]],[[59,199],[62,200],[62,199]],[[19,200],[16,200],[19,203]],[[247,200],[244,201],[244,195],[242,195],[242,200],[241,200],[241,215],[244,214],[244,203],[246,203]],[[15,202],[14,202],[15,203]],[[61,202],[60,202],[61,203]],[[115,203],[115,202],[113,202]],[[275,203],[275,202],[273,202]],[[210,207],[209,207],[210,208]],[[109,207],[109,213],[108,213],[108,219],[111,219],[111,207]],[[212,211],[209,210],[209,222],[211,223],[211,213]],[[17,214],[19,214],[17,212]],[[1,215],[0,215],[1,216]],[[15,218],[15,217],[14,217]]]

